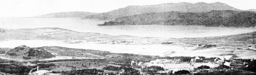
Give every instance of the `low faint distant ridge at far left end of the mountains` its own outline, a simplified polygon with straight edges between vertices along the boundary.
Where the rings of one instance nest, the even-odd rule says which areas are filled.
[[[49,13],[49,14],[43,14],[35,17],[85,17],[93,14],[93,12],[60,12],[60,13]]]

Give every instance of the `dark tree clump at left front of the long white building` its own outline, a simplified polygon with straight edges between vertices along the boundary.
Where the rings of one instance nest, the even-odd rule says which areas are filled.
[[[149,66],[149,67],[145,67],[145,68],[142,68],[142,72],[147,72],[147,73],[154,73],[154,72],[157,72],[157,71],[163,71],[163,67],[160,67],[160,66]]]

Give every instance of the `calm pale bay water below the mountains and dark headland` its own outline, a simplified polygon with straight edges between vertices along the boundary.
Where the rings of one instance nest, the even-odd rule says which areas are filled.
[[[80,18],[34,18],[8,17],[0,18],[0,28],[45,28],[57,27],[78,32],[102,33],[109,35],[128,35],[140,37],[192,38],[225,36],[256,31],[256,28],[221,28],[205,26],[169,26],[169,25],[125,25],[97,26],[105,21]]]

